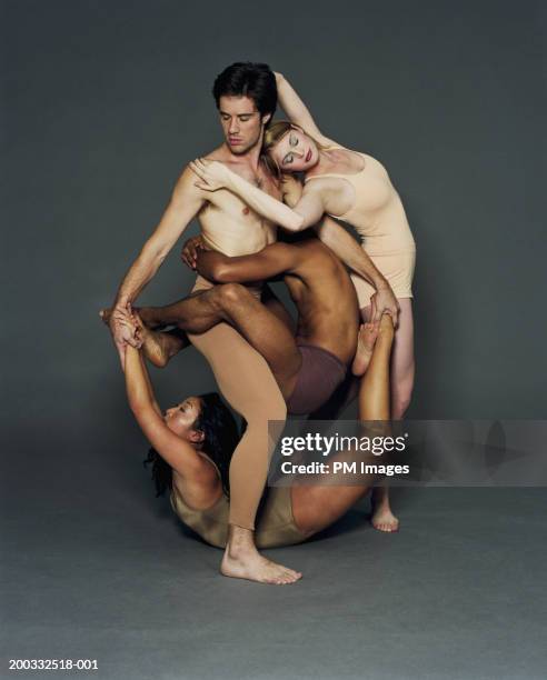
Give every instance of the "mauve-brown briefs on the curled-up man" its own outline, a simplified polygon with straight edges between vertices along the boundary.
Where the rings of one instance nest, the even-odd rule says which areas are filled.
[[[344,382],[347,367],[332,352],[306,344],[296,339],[302,357],[297,382],[291,396],[287,399],[287,411],[295,416],[312,413],[320,408]]]

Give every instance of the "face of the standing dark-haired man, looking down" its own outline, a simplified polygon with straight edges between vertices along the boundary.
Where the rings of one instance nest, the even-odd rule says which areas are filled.
[[[226,143],[238,156],[261,143],[260,134],[270,119],[269,114],[261,117],[248,97],[221,97],[219,114]]]

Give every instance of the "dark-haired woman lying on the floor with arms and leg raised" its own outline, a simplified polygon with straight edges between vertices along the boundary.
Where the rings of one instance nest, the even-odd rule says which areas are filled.
[[[187,397],[161,412],[145,363],[149,348],[157,352],[155,331],[128,311],[125,322],[142,341],[128,347],[126,387],[130,408],[153,450],[153,478],[158,493],[170,490],[179,518],[211,546],[223,548],[228,536],[228,470],[239,439],[236,421],[216,393]],[[391,318],[385,314],[370,326],[372,358],[359,392],[360,420],[389,419],[389,358],[394,338]],[[257,546],[275,548],[305,541],[336,522],[371,486],[329,484],[271,487],[267,489],[257,526]],[[294,581],[292,570],[277,583]]]

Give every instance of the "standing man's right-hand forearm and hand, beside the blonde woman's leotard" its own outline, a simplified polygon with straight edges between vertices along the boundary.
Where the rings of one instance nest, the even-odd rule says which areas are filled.
[[[399,313],[397,298],[387,279],[378,271],[359,243],[331,218],[324,218],[315,229],[325,246],[328,246],[349,269],[361,276],[376,289],[374,299],[371,299],[372,321],[379,321],[382,313],[389,313],[394,326],[397,326]]]

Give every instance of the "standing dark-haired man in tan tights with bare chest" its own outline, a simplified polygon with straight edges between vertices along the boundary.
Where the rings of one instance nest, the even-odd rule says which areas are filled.
[[[206,158],[226,163],[270,196],[282,198],[279,182],[260,161],[265,127],[277,104],[274,73],[265,64],[232,64],[216,79],[213,96],[225,142]],[[207,246],[227,256],[258,252],[276,240],[275,224],[229,191],[211,193],[200,189],[196,179],[187,167],[159,224],[127,272],[115,310],[125,310],[136,301],[195,217]],[[377,289],[378,318],[384,311],[396,316],[397,303],[389,286],[352,238],[336,222],[324,224],[320,238]],[[211,286],[198,277],[193,292]],[[258,297],[260,287],[252,291]],[[110,317],[110,329],[123,367],[127,344],[137,347],[138,341],[116,313]],[[255,516],[276,444],[268,438],[267,424],[268,420],[285,420],[282,394],[265,359],[229,324],[219,323],[199,336],[190,336],[190,341],[208,360],[227,401],[248,423],[230,467],[230,532],[221,572],[268,583],[296,581],[301,577],[299,572],[267,560],[253,542]]]

